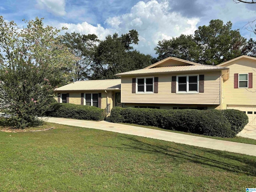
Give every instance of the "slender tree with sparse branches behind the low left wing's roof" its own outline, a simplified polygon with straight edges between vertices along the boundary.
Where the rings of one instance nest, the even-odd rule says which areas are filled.
[[[77,60],[67,68],[71,73],[72,80],[84,80],[90,75],[90,65],[92,64],[92,56],[99,42],[95,34],[81,35],[79,33],[65,33],[61,37],[61,42],[64,43],[72,52]]]

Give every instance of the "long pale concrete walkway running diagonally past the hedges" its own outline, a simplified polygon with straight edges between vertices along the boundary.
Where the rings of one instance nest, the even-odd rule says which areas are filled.
[[[191,136],[191,135],[167,132],[162,130],[155,130],[155,129],[130,126],[130,125],[124,125],[124,124],[116,124],[116,123],[111,123],[107,121],[94,122],[94,121],[86,121],[86,120],[49,117],[47,122],[70,125],[70,126],[78,126],[78,127],[84,127],[84,128],[94,128],[94,129],[118,132],[123,134],[136,135],[136,136],[154,138],[154,139],[165,140],[170,142],[176,142],[181,144],[187,144],[192,146],[210,148],[215,150],[229,151],[229,152],[256,156],[256,145],[252,145],[252,144],[244,144],[244,143],[238,143],[238,142],[230,142],[230,141],[224,141],[224,140]]]

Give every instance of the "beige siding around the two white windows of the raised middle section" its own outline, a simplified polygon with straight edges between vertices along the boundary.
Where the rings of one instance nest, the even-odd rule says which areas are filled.
[[[193,72],[187,74],[204,74],[204,93],[176,94],[171,93],[172,76],[180,74],[148,75],[158,77],[158,93],[132,94],[132,78],[147,76],[122,77],[121,102],[147,104],[220,104],[220,71]]]

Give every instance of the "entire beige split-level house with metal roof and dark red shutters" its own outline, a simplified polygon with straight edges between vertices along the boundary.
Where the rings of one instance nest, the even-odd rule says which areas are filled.
[[[256,125],[256,58],[240,56],[218,66],[168,57],[146,68],[56,88],[58,102],[158,109],[238,109]]]

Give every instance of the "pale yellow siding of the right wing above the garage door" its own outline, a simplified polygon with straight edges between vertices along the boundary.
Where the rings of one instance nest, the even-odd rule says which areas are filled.
[[[227,105],[255,105],[256,104],[256,60],[241,58],[225,64],[230,68],[229,79],[223,82],[223,104]],[[234,74],[252,73],[252,88],[234,88]]]

